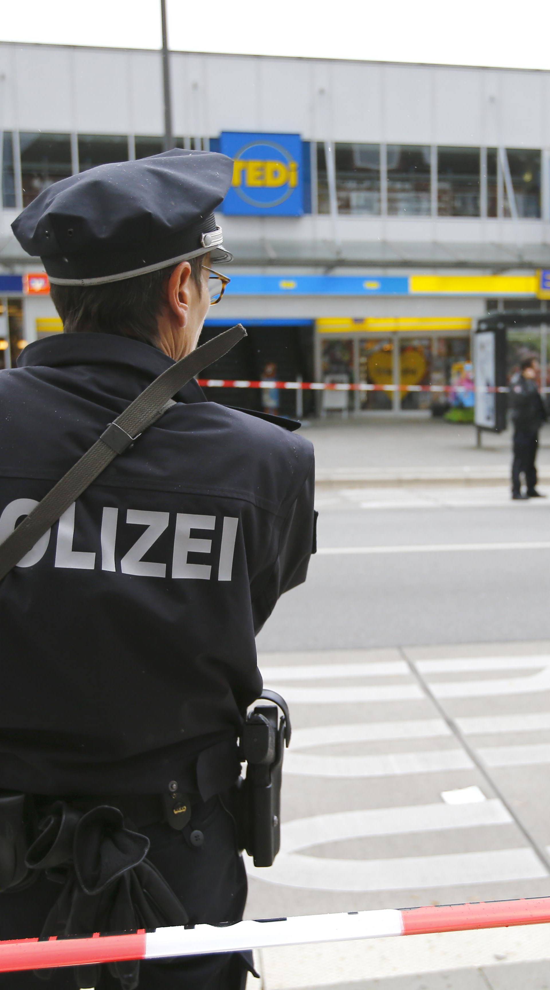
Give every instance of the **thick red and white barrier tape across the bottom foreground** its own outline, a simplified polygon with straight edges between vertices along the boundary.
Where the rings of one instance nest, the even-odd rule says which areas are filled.
[[[323,941],[383,939],[402,935],[467,932],[473,929],[540,925],[550,922],[550,897],[402,911],[358,911],[338,915],[307,915],[239,922],[228,927],[196,925],[139,931],[131,935],[87,939],[22,939],[0,941],[0,972],[85,966],[125,959],[243,951],[276,945]]]

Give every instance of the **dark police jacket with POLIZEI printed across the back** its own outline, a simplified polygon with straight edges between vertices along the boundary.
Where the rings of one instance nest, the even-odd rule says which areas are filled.
[[[170,363],[74,334],[0,373],[0,541]],[[175,398],[0,584],[0,788],[196,785],[261,691],[254,635],[313,548],[313,447],[195,381]]]

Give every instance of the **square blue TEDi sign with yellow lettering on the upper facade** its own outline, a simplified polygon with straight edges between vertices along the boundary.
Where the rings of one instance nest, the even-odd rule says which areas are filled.
[[[220,150],[233,159],[224,213],[300,217],[304,212],[302,139],[299,134],[220,136]]]

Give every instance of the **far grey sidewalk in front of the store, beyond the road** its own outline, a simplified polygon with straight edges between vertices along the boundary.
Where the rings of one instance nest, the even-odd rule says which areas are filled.
[[[312,421],[302,434],[316,448],[318,482],[500,483],[509,479],[511,432],[484,433],[438,419],[356,418]],[[550,481],[550,427],[540,433],[540,478]]]

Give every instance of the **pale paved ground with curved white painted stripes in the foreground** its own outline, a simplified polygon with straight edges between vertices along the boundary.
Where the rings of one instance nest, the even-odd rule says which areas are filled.
[[[550,640],[259,658],[293,743],[279,855],[246,858],[247,918],[550,895]],[[550,924],[255,958],[261,990],[550,990]]]

